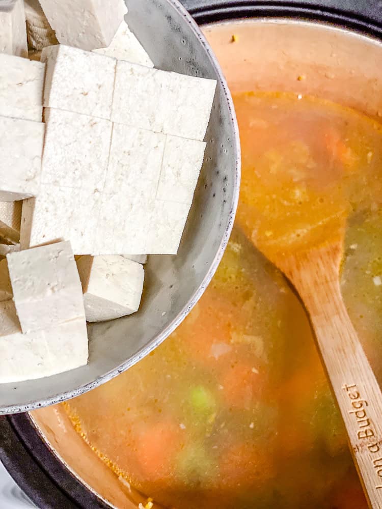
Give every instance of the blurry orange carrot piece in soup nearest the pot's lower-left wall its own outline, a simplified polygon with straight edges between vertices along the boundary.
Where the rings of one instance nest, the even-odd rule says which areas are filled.
[[[147,480],[160,480],[171,475],[174,456],[182,447],[183,431],[172,421],[147,426],[137,440],[137,458]]]

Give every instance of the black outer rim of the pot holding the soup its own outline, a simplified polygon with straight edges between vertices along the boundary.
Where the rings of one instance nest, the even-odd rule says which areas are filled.
[[[380,0],[182,0],[199,24],[242,18],[291,18],[342,26],[382,40]],[[107,509],[54,456],[28,413],[0,416],[0,461],[40,509]]]

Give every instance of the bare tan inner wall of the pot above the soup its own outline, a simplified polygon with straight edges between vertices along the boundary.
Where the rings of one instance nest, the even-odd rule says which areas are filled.
[[[382,44],[376,40],[331,25],[282,19],[207,25],[204,33],[232,92],[316,95],[382,118],[382,66],[378,65]],[[53,453],[104,500],[124,508],[146,500],[122,484],[95,455],[62,407],[37,410],[31,416]]]

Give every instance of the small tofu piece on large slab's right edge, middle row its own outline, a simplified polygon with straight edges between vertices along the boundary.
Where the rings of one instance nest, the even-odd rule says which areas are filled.
[[[193,202],[194,191],[203,164],[206,144],[195,139],[166,136],[165,153],[156,198]]]

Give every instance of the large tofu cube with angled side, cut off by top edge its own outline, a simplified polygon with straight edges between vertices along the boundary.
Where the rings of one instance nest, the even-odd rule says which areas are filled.
[[[110,45],[127,12],[123,0],[40,0],[40,4],[61,44],[88,51]]]

